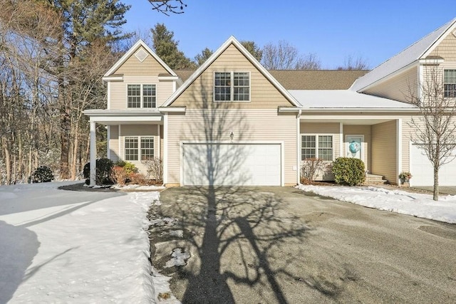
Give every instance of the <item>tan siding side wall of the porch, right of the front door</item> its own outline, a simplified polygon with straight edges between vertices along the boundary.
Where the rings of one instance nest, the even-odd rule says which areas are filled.
[[[372,126],[371,173],[383,175],[388,182],[398,180],[396,169],[396,121],[383,122]]]

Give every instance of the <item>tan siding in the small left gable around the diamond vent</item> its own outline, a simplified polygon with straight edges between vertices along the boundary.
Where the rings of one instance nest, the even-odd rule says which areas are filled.
[[[142,48],[142,46],[139,46],[138,50],[140,48]],[[142,49],[147,52],[144,48]],[[138,50],[134,51],[132,56],[130,56],[123,65],[120,65],[113,74],[123,74],[124,76],[156,76],[160,73],[168,73],[168,71],[150,54],[144,61],[139,61],[135,56],[135,53]]]

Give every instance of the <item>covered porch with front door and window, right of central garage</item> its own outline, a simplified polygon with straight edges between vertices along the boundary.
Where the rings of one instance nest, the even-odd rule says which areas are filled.
[[[299,151],[301,166],[316,157],[326,163],[316,180],[333,180],[331,162],[355,157],[366,166],[366,174],[398,183],[402,168],[402,119],[384,115],[301,115]]]

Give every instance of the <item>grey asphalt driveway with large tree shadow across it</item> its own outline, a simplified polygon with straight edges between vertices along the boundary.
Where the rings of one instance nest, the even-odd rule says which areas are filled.
[[[153,232],[153,263],[182,303],[456,302],[456,225],[289,187],[170,188],[160,200],[151,214],[184,232]],[[165,268],[177,246],[187,266]]]

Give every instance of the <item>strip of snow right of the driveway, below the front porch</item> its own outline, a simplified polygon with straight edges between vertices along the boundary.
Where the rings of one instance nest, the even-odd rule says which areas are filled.
[[[402,190],[377,187],[323,187],[301,185],[297,188],[332,197],[340,201],[371,207],[379,210],[408,214],[423,219],[456,223],[456,196],[441,195],[439,201],[432,194],[418,194]]]

